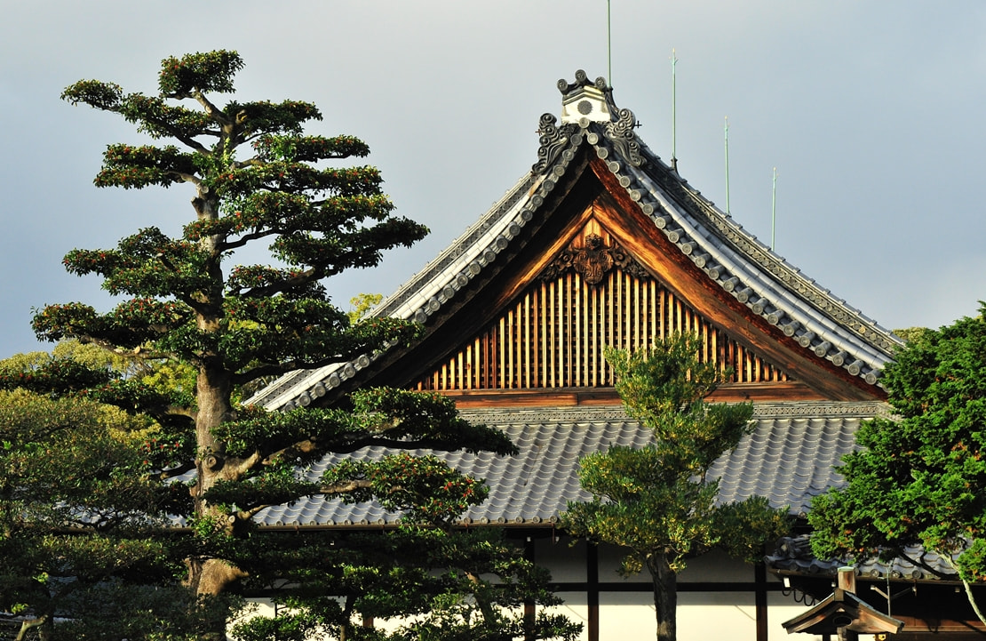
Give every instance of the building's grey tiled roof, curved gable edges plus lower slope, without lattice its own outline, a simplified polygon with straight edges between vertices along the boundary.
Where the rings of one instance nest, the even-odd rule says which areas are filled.
[[[813,377],[813,396],[787,402],[771,402],[767,396],[768,402],[754,402],[753,433],[709,474],[721,478],[720,501],[761,495],[775,507],[804,516],[813,496],[841,482],[834,467],[856,447],[861,421],[888,411],[881,402],[885,393],[880,372],[900,340],[802,274],[691,187],[636,136],[635,116],[616,107],[602,79],[589,81],[580,71],[574,83],[562,80],[558,88],[561,122],[550,113],[541,116],[531,170],[373,311],[376,316],[421,322],[432,340],[427,348],[414,352],[413,346],[390,345],[351,362],[295,372],[248,402],[281,411],[319,404],[355,386],[379,384],[387,368],[440,360],[448,353],[442,351],[448,345],[441,341],[454,340],[449,336],[459,331],[462,310],[475,321],[488,314],[484,305],[494,298],[494,287],[500,288],[496,296],[506,300],[514,296],[511,292],[521,291],[525,279],[550,272],[575,235],[569,221],[597,216],[599,205],[606,209],[599,226],[618,228],[613,238],[618,236],[627,246],[626,254],[649,256],[652,262],[646,268],[652,274],[658,273],[656,265],[667,267],[678,278],[674,282],[688,285],[676,292],[682,298],[687,294],[713,300],[703,308],[712,313],[708,316],[719,313],[722,326],[747,331],[744,335],[754,348],[769,352],[779,345],[771,356]],[[545,242],[552,246],[548,254],[532,258],[537,250],[544,253]],[[666,254],[673,255],[666,260]],[[568,257],[574,262],[570,252]],[[635,277],[635,268],[627,267],[622,277]],[[591,275],[587,272],[584,278]],[[461,339],[459,331],[455,340]],[[783,387],[770,385],[775,392]],[[473,392],[467,390],[462,397]],[[541,406],[512,406],[502,398],[489,402],[473,393],[482,407],[462,412],[470,421],[503,430],[517,444],[519,455],[439,454],[490,485],[489,499],[472,508],[465,523],[552,524],[569,500],[589,498],[579,487],[582,457],[612,444],[643,447],[651,442],[649,430],[618,405],[603,404],[601,396],[586,401],[579,395],[585,390],[527,392],[528,399],[535,398],[533,404]],[[552,402],[566,393],[569,402]],[[616,401],[614,397],[608,402]],[[370,449],[347,456],[383,454]],[[308,477],[316,479],[334,462],[326,457],[307,470]],[[373,527],[397,518],[376,504],[346,505],[321,497],[270,508],[257,517],[271,527]]]

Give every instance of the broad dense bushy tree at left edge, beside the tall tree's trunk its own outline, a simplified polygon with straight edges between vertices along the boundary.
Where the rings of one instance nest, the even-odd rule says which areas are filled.
[[[4,365],[26,360],[37,358]],[[0,392],[0,610],[24,616],[22,633],[141,638],[140,627],[194,627],[189,616],[202,612],[173,585],[175,542],[154,535],[181,496],[147,478],[152,433],[139,417],[86,398]],[[106,616],[107,605],[133,605],[138,595],[156,598],[156,616],[136,626]],[[181,601],[189,606],[162,607]],[[56,614],[71,624],[56,630]]]

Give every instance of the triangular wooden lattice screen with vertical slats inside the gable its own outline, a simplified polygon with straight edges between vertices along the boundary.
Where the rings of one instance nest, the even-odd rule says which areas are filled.
[[[602,348],[646,349],[672,332],[698,334],[702,358],[733,383],[788,376],[698,315],[597,225],[544,268],[516,303],[421,380],[437,392],[608,388]]]

